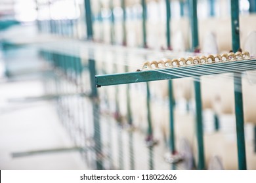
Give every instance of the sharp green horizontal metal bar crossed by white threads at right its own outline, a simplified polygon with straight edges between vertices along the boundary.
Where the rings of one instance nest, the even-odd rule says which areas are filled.
[[[240,61],[232,61],[232,63],[240,63]],[[245,62],[243,62],[244,64]],[[239,72],[243,71],[253,71],[256,70],[256,61],[255,63],[249,63],[251,68],[243,68],[239,69]],[[203,64],[203,65],[190,65],[190,66],[182,66],[182,67],[173,67],[170,69],[157,69],[157,70],[150,70],[150,71],[137,71],[133,73],[119,73],[119,74],[112,74],[112,75],[97,75],[95,76],[96,79],[96,87],[101,86],[110,86],[116,84],[129,84],[135,82],[149,82],[154,80],[169,80],[175,78],[184,78],[184,77],[194,77],[194,76],[204,76],[204,75],[216,75],[216,73],[211,71],[204,71],[202,73],[194,72],[193,68],[198,69],[207,69],[216,67],[216,71],[218,74],[224,73],[234,73],[238,72],[236,69],[232,67],[228,67],[230,63],[211,63],[211,64]],[[225,70],[219,70],[219,66],[225,67]],[[188,69],[190,73],[188,74]],[[213,70],[214,71],[214,70]],[[179,74],[177,74],[179,73]]]

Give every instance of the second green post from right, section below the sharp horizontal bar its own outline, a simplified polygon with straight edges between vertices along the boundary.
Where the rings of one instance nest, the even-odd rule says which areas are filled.
[[[194,81],[194,90],[196,99],[196,139],[198,142],[198,169],[203,170],[205,169],[205,161],[203,149],[203,122],[200,81]]]

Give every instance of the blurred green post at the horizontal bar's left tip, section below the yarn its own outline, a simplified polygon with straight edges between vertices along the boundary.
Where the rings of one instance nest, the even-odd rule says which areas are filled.
[[[100,137],[100,109],[98,104],[98,92],[95,83],[95,60],[89,59],[89,71],[91,81],[91,101],[93,103],[93,124],[94,124],[94,141],[95,141],[95,152],[96,152],[96,169],[103,169],[102,166],[102,146]]]

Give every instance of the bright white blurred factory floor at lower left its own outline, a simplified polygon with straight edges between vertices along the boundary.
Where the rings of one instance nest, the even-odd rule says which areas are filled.
[[[0,169],[87,169],[51,102],[8,101],[41,93],[39,80],[0,84]]]

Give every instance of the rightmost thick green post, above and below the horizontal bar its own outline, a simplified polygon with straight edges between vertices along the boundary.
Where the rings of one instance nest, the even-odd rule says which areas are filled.
[[[231,4],[232,49],[237,52],[240,48],[239,29],[239,0]],[[244,110],[242,95],[242,73],[234,73],[234,101],[236,114],[236,138],[238,146],[238,169],[246,169],[245,138],[244,138]],[[236,82],[235,82],[236,81]]]

